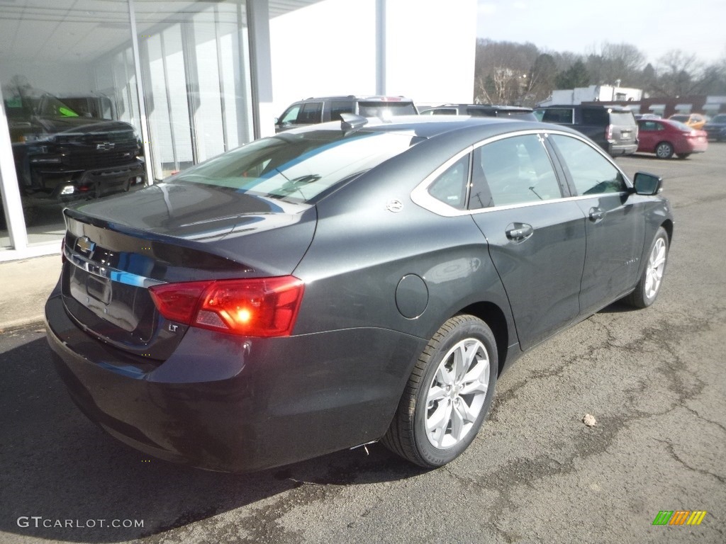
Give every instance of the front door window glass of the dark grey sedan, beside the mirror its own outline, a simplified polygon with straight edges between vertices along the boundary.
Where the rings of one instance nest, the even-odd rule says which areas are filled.
[[[550,135],[563,157],[577,194],[619,193],[627,190],[615,165],[584,141],[560,134]]]

